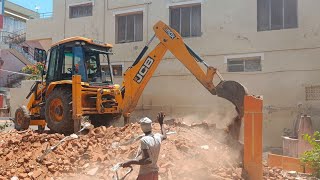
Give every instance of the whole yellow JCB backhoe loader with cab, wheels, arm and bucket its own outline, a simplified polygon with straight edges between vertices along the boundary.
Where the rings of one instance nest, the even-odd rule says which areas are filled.
[[[73,133],[80,129],[82,116],[89,116],[94,126],[110,125],[124,116],[128,121],[138,100],[169,50],[212,94],[232,102],[240,121],[246,89],[235,81],[225,81],[216,68],[209,66],[188,45],[180,34],[159,21],[153,27],[155,35],[144,47],[131,67],[124,73],[122,87],[113,83],[109,55],[111,44],[83,37],[73,37],[54,44],[48,51],[45,80],[37,81],[27,98],[28,105],[17,109],[15,128],[26,129],[47,125],[58,133]],[[158,45],[145,56],[148,46],[157,37]],[[102,71],[101,62],[109,64],[109,73]],[[203,71],[200,64],[206,67]],[[214,76],[220,83],[213,83]],[[239,123],[236,129],[240,128]],[[239,127],[238,127],[239,126]]]

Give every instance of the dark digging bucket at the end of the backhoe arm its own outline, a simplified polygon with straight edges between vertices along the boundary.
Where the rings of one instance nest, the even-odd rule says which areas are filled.
[[[238,118],[244,115],[244,96],[248,94],[247,88],[236,81],[221,81],[216,86],[217,96],[227,99],[236,106]]]

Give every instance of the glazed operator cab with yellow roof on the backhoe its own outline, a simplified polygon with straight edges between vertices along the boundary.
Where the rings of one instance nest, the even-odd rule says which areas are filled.
[[[47,58],[47,82],[72,80],[81,75],[81,81],[90,85],[113,84],[112,73],[103,72],[100,62],[106,62],[111,71],[109,55],[111,44],[102,44],[82,37],[68,38],[52,46]]]

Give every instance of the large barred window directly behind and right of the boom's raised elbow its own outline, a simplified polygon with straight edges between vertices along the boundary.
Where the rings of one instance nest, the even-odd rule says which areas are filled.
[[[201,5],[171,7],[170,26],[182,37],[201,36]]]

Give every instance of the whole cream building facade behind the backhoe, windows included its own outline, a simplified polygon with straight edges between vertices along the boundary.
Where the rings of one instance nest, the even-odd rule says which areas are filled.
[[[311,115],[320,128],[319,6],[318,0],[59,0],[51,19],[28,21],[27,39],[46,49],[72,36],[114,44],[113,71],[121,83],[153,36],[153,25],[164,21],[226,80],[264,97],[264,145],[281,146],[284,128],[292,129],[299,113]],[[218,125],[234,113],[170,53],[137,109],[139,116],[165,110]]]

